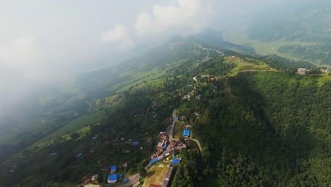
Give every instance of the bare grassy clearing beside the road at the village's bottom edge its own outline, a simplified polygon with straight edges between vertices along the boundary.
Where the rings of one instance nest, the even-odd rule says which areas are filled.
[[[152,166],[151,169],[147,172],[146,179],[144,181],[144,185],[148,187],[151,184],[161,185],[165,174],[167,174],[168,166],[163,164]]]

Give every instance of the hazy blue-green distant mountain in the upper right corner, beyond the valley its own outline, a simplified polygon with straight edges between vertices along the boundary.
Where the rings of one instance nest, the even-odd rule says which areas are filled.
[[[331,1],[303,1],[300,6],[274,7],[248,28],[251,40],[331,41]]]

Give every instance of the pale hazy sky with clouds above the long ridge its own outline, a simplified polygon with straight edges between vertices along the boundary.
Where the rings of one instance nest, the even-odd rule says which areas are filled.
[[[170,35],[241,24],[281,2],[0,0],[0,118],[34,85],[118,63]]]

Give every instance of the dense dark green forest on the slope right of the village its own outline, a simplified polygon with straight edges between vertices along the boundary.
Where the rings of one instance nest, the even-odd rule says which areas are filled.
[[[204,146],[204,175],[221,186],[330,186],[327,80],[242,72],[218,81],[194,126]]]

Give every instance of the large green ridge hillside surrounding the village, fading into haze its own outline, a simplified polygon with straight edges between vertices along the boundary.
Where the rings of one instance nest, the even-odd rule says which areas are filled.
[[[303,66],[314,69],[295,74]],[[1,151],[17,154],[2,158],[0,186],[77,186],[95,174],[107,186],[112,165],[137,174],[174,109],[187,115],[174,135],[185,142],[178,131],[192,118],[194,139],[176,151],[172,186],[328,186],[330,80],[308,62],[172,40],[42,99],[30,129],[3,137]]]

